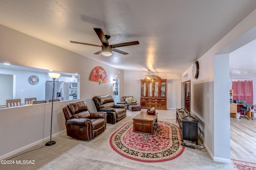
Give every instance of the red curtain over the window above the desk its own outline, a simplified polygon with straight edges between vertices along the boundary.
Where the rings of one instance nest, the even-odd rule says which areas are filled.
[[[253,103],[252,80],[232,80],[233,99]]]

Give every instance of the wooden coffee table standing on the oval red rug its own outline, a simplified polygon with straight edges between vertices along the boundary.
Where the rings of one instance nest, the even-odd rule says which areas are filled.
[[[153,134],[154,125],[157,124],[157,115],[148,114],[146,111],[141,111],[133,120],[133,131],[139,133]]]

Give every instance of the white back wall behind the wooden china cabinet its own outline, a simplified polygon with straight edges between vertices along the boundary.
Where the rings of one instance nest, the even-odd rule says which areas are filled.
[[[133,96],[140,104],[140,80],[144,79],[145,75],[148,75],[148,72],[124,71],[124,96]],[[167,108],[180,108],[181,75],[156,72],[150,72],[150,75],[156,75],[162,79],[167,79]]]

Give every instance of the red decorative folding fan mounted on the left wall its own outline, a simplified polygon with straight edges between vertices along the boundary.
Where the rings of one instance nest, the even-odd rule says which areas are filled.
[[[108,82],[108,74],[101,66],[96,66],[92,69],[92,73],[90,76],[90,80],[94,82],[107,83]]]

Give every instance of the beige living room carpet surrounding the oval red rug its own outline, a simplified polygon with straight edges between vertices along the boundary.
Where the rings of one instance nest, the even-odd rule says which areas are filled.
[[[107,129],[91,141],[80,141],[68,137],[62,133],[52,140],[56,141],[53,146],[44,147],[44,142],[27,152],[10,160],[34,160],[34,164],[0,164],[1,170],[233,170],[231,164],[214,162],[208,152],[185,148],[184,152],[173,160],[166,162],[138,162],[116,153],[109,144],[110,136],[124,123],[132,121],[132,117],[140,111],[127,111],[127,117],[115,125],[107,124]],[[176,111],[158,111],[158,120],[176,124]],[[7,160],[8,158],[6,158]]]

